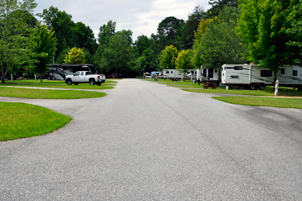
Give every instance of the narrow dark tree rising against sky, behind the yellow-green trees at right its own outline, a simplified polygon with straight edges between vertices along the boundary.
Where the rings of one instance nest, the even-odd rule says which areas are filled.
[[[193,46],[194,32],[197,31],[198,25],[204,19],[204,8],[197,6],[193,13],[189,13],[188,20],[182,29],[183,48],[191,49]]]

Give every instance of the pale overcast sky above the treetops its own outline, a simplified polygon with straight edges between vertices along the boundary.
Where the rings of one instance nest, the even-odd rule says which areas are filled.
[[[116,22],[116,31],[130,29],[133,32],[133,42],[137,36],[156,34],[159,23],[166,17],[187,20],[196,6],[210,8],[208,0],[36,0],[36,3],[35,14],[50,6],[57,7],[70,14],[74,23],[89,26],[96,38],[100,26],[112,20]]]

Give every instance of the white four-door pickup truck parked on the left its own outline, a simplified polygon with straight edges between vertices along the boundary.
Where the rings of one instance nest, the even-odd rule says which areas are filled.
[[[91,72],[88,71],[78,71],[77,73],[74,73],[73,75],[66,76],[65,83],[67,85],[79,85],[79,83],[89,83],[90,85],[97,84],[100,86],[102,83],[106,81],[104,75],[97,75],[97,74],[91,74]]]

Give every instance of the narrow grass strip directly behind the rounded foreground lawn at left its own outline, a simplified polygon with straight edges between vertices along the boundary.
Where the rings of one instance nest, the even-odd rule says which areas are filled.
[[[18,98],[42,98],[42,99],[81,99],[99,98],[106,93],[75,90],[53,90],[53,89],[26,89],[14,87],[0,87],[0,96]]]

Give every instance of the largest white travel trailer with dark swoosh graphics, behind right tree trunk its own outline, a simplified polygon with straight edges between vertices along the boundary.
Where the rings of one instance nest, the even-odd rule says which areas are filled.
[[[279,86],[302,90],[302,68],[300,66],[281,66],[277,74]],[[221,82],[228,86],[246,89],[264,90],[265,86],[274,85],[274,74],[269,69],[257,69],[257,65],[224,64],[221,67]]]

